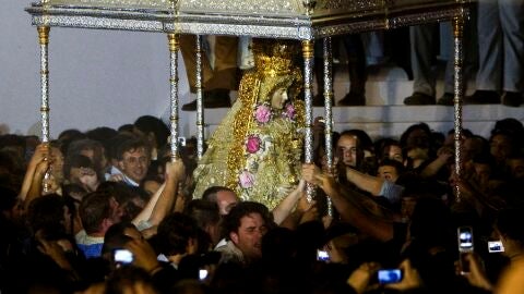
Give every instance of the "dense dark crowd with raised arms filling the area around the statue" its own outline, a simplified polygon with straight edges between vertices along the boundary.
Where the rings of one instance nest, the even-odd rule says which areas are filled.
[[[321,120],[314,132],[314,163],[272,209],[225,186],[193,198],[195,142],[171,160],[153,117],[49,143],[0,136],[1,292],[524,291],[521,122],[498,121],[489,138],[464,130],[460,176],[453,132],[419,123],[373,142],[348,130],[331,168]],[[503,252],[488,253],[490,241]],[[384,269],[402,277],[383,284]]]

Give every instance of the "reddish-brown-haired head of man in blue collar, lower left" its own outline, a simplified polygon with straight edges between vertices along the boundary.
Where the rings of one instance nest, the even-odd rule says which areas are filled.
[[[118,203],[107,192],[87,194],[80,204],[79,213],[88,235],[103,236],[109,226],[120,222]]]

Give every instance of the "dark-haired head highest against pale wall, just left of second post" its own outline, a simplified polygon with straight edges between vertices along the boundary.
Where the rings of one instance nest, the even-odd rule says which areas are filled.
[[[144,136],[152,147],[160,148],[167,144],[169,128],[159,119],[152,115],[143,115],[138,118],[133,125],[133,132]]]

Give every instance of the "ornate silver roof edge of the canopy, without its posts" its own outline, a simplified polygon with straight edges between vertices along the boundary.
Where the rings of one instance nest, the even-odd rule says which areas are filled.
[[[471,0],[47,0],[33,24],[314,39],[450,20]]]

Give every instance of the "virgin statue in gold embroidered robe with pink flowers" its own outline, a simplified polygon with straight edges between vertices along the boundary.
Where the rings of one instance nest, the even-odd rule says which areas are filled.
[[[300,176],[303,101],[299,52],[291,40],[253,40],[254,68],[238,98],[207,140],[195,171],[194,197],[227,186],[243,200],[273,209]]]

